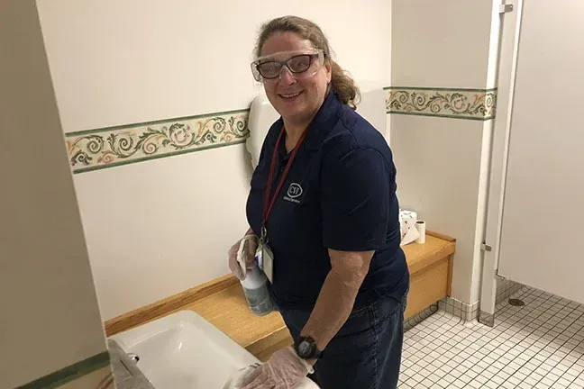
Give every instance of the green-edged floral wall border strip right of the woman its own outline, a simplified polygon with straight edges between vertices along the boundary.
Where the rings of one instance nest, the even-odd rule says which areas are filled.
[[[390,86],[388,113],[486,121],[495,118],[497,89]]]

